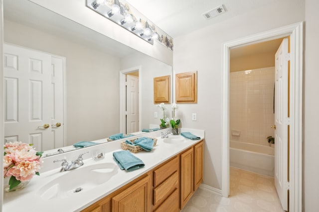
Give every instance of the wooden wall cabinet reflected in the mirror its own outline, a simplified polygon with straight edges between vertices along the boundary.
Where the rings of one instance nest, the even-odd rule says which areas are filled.
[[[154,77],[154,104],[170,103],[170,75]]]

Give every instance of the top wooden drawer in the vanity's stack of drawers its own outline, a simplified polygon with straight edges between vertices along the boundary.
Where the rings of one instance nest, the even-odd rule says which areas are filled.
[[[154,171],[154,187],[160,185],[168,176],[178,170],[178,162],[178,157],[175,157]]]

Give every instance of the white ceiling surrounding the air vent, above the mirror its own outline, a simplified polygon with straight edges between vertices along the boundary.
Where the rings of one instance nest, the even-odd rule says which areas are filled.
[[[126,0],[169,36],[176,38],[196,29],[246,13],[278,0]],[[225,13],[206,20],[203,13],[224,5]]]

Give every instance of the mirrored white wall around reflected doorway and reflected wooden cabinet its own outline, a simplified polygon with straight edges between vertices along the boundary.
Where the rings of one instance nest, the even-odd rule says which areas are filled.
[[[127,70],[133,67],[141,67],[140,84],[142,104],[142,120],[141,128],[150,128],[150,124],[155,124],[160,127],[160,119],[162,118],[162,111],[154,104],[154,77],[166,76],[172,74],[172,67],[164,64],[147,55],[136,53],[121,59],[121,70]],[[172,77],[170,77],[172,80]],[[171,117],[171,107],[166,105],[166,115]],[[158,118],[154,118],[154,112],[158,112]]]

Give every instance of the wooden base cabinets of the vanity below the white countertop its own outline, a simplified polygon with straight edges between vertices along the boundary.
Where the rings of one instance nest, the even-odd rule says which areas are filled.
[[[82,212],[179,212],[203,181],[203,144],[189,147]]]

